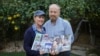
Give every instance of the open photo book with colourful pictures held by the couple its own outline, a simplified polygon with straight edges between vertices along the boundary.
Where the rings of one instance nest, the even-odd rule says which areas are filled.
[[[49,53],[51,50],[56,52],[69,51],[71,49],[71,35],[48,37],[45,34],[36,34],[31,50],[42,50]]]

